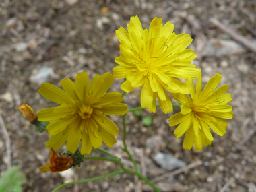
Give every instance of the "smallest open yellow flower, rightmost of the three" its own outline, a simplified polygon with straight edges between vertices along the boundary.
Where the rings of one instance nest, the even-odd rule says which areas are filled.
[[[203,144],[209,146],[214,140],[210,130],[220,136],[226,133],[228,123],[224,119],[232,119],[234,113],[232,106],[227,104],[232,100],[231,94],[224,94],[229,89],[228,85],[216,89],[221,79],[222,75],[216,73],[202,91],[201,75],[197,79],[196,88],[192,79],[188,78],[186,83],[192,88],[191,98],[184,94],[170,94],[182,105],[181,112],[170,117],[169,123],[170,126],[181,123],[174,131],[177,138],[187,131],[183,142],[187,150],[192,148],[194,142],[195,150],[201,150]]]

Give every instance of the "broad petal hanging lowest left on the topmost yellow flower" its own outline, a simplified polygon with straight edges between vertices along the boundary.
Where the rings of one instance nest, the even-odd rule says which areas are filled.
[[[153,103],[153,92],[149,84],[144,84],[141,90],[141,107],[150,109]]]

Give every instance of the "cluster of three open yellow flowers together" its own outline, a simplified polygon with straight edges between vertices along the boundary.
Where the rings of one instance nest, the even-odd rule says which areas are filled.
[[[211,130],[223,136],[228,126],[224,119],[233,117],[232,106],[227,104],[231,94],[225,94],[227,85],[216,89],[220,73],[202,88],[201,69],[191,65],[197,55],[187,49],[192,42],[189,34],[175,34],[174,24],[163,25],[162,18],[154,18],[149,30],[143,30],[137,16],[131,17],[127,30],[121,27],[116,31],[121,55],[115,59],[119,65],[113,68],[113,75],[96,75],[89,84],[88,74],[78,73],[75,84],[70,79],[61,80],[63,90],[42,84],[40,94],[60,104],[38,112],[38,121],[51,121],[46,127],[51,135],[46,146],[57,150],[67,141],[67,150],[74,153],[81,141],[81,154],[90,154],[92,147],[100,147],[102,141],[112,147],[119,128],[104,115],[127,113],[120,93],[106,93],[115,78],[126,78],[121,89],[127,93],[142,86],[141,107],[151,112],[156,111],[156,98],[165,114],[172,113],[170,96],[182,104],[181,112],[169,122],[170,126],[180,123],[174,131],[177,138],[186,133],[185,149],[190,150],[194,143],[196,150],[201,150],[203,144],[210,145],[214,140]],[[186,84],[177,78],[186,79]],[[197,79],[196,86],[192,79]]]

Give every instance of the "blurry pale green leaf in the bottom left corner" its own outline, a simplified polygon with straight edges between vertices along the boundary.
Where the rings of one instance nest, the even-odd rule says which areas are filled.
[[[9,168],[0,179],[1,192],[22,192],[22,184],[26,183],[25,174],[18,166]]]

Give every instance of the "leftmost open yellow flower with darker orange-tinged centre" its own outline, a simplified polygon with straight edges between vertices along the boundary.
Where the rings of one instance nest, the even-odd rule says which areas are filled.
[[[43,83],[38,92],[45,98],[60,104],[40,110],[39,121],[51,121],[46,127],[51,136],[46,147],[57,150],[67,141],[67,151],[74,153],[80,140],[81,154],[90,154],[92,147],[99,148],[102,141],[112,147],[119,128],[104,115],[123,115],[127,105],[120,103],[120,93],[106,93],[113,84],[113,75],[96,75],[89,86],[86,72],[78,73],[75,84],[70,79],[61,80],[63,90]]]

